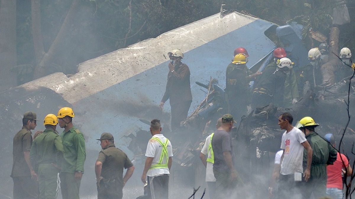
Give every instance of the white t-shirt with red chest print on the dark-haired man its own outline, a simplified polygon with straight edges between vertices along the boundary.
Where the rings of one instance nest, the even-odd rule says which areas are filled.
[[[290,175],[295,172],[303,173],[303,146],[306,140],[305,134],[293,127],[293,129],[282,135],[281,149],[284,149],[284,159],[281,164],[280,174]]]

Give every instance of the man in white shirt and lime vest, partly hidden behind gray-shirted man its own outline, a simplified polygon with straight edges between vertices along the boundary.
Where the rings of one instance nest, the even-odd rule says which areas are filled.
[[[222,118],[217,120],[216,128],[218,129],[222,125]],[[206,182],[208,186],[209,198],[215,198],[215,188],[216,188],[216,178],[213,174],[213,162],[214,158],[212,157],[213,149],[212,149],[212,138],[214,133],[207,136],[206,141],[202,147],[200,153],[200,159],[204,166],[206,167]],[[206,158],[207,155],[207,158]]]

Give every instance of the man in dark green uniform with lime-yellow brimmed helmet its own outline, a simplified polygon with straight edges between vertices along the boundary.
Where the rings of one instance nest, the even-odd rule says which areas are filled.
[[[333,164],[337,160],[337,151],[315,132],[315,127],[319,124],[311,117],[302,118],[296,127],[305,133],[306,139],[313,150],[311,175],[307,182],[302,182],[302,196],[305,199],[311,198],[313,193],[315,198],[326,196],[327,185],[327,165]],[[307,152],[304,150],[303,165],[306,165]]]

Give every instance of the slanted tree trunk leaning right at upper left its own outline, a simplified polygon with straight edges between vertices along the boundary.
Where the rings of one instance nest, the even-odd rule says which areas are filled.
[[[48,68],[56,55],[58,53],[61,42],[65,39],[65,36],[70,29],[70,25],[72,24],[73,20],[75,19],[76,11],[79,6],[80,0],[73,0],[70,9],[64,19],[64,22],[55,38],[53,43],[50,45],[49,50],[47,53],[44,54],[43,58],[39,62],[39,64],[34,69],[34,79],[41,78],[45,75],[48,75]]]

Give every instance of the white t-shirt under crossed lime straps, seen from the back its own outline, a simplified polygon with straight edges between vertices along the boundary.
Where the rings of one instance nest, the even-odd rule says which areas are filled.
[[[166,138],[163,134],[157,134],[153,137],[159,138],[159,140],[164,144],[166,142]],[[157,164],[160,159],[160,155],[162,154],[162,146],[159,144],[158,141],[150,139],[148,142],[147,150],[146,150],[146,157],[153,158],[152,165]],[[168,146],[166,147],[168,150],[168,156],[173,157],[173,149],[171,148],[170,141],[168,142]],[[165,164],[165,160],[163,160],[163,164]],[[162,174],[170,174],[169,169],[167,168],[154,168],[149,169],[147,172],[147,176],[159,176]]]

